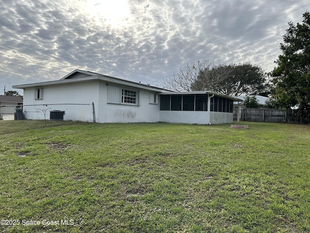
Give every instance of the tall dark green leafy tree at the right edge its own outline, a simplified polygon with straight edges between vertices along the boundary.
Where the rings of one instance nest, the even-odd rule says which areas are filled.
[[[302,23],[289,28],[280,43],[282,55],[276,61],[277,67],[271,72],[273,103],[276,107],[298,107],[298,115],[305,119],[310,116],[310,13],[303,14]]]

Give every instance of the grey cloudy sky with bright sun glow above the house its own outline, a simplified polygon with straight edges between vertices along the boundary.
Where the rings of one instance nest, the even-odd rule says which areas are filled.
[[[271,71],[306,11],[309,0],[1,0],[0,95],[77,68],[158,86],[198,60]]]

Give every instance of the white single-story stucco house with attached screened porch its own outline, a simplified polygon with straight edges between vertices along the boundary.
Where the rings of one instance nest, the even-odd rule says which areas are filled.
[[[13,88],[24,90],[24,105],[93,103],[98,123],[231,123],[233,101],[241,101],[211,91],[172,92],[79,69],[57,81]],[[65,116],[72,111],[62,110]]]

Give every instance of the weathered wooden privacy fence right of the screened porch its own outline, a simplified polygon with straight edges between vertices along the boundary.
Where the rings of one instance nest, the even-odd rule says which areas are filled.
[[[301,119],[296,117],[294,110],[279,110],[266,108],[244,108],[241,109],[242,120],[264,121],[264,122],[288,122],[301,123]]]

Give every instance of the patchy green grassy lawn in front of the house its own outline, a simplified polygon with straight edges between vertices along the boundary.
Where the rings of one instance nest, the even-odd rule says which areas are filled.
[[[0,232],[310,232],[310,126],[242,124],[0,121]]]

